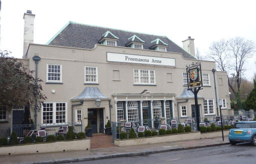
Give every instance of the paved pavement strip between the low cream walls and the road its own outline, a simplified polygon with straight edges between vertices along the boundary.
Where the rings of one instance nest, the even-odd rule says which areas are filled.
[[[162,153],[170,151],[179,151],[194,149],[200,147],[210,147],[216,145],[228,144],[228,139],[225,137],[225,142],[221,138],[189,140],[161,144],[147,144],[130,147],[112,147],[101,149],[90,149],[84,151],[70,151],[59,153],[44,153],[32,155],[10,155],[0,156],[0,164],[53,164],[67,163],[77,161],[89,161],[97,159],[109,159],[114,157],[131,157],[142,156],[153,153]],[[50,148],[49,148],[50,149]]]

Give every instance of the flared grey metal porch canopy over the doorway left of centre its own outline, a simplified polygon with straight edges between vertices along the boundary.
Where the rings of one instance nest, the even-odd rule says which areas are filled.
[[[84,90],[78,96],[72,98],[71,101],[95,100],[97,98],[100,100],[110,100],[99,91],[98,87],[85,87]]]

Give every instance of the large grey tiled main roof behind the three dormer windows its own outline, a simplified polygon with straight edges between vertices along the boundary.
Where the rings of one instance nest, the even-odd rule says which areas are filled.
[[[166,36],[157,36],[150,34],[143,34],[138,32],[131,32],[119,29],[112,29],[106,27],[98,27],[86,24],[79,24],[75,22],[69,22],[62,30],[60,30],[56,36],[54,36],[49,42],[49,45],[77,47],[77,48],[88,48],[91,49],[95,44],[102,38],[102,34],[106,31],[110,31],[113,35],[119,38],[117,46],[125,46],[133,35],[138,36],[140,39],[145,41],[143,49],[149,49],[152,46],[151,41],[159,38],[164,43],[168,44],[167,52],[182,53],[184,58],[195,59],[188,52],[184,51],[178,45],[169,40]],[[109,35],[110,36],[110,35]],[[160,43],[160,42],[159,42]]]

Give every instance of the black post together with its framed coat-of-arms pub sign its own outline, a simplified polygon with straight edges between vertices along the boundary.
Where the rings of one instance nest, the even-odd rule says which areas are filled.
[[[188,78],[189,77],[189,78]],[[190,90],[194,94],[194,104],[195,104],[195,117],[196,117],[196,130],[200,130],[200,121],[199,121],[199,107],[197,101],[197,93],[202,89],[201,83],[201,63],[197,61],[196,63],[192,62],[190,65],[186,65],[186,78],[187,78],[187,90]]]

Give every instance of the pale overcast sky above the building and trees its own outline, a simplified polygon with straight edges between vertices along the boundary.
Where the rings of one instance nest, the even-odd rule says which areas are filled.
[[[163,35],[182,47],[194,38],[201,55],[212,41],[241,36],[256,44],[255,0],[1,0],[0,49],[22,58],[23,13],[35,14],[34,43],[45,44],[68,21]],[[256,53],[245,77],[256,73]]]

